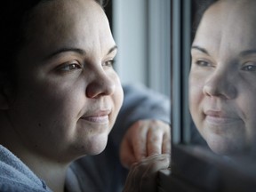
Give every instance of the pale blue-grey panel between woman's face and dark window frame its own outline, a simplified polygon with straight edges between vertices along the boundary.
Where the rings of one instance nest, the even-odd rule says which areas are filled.
[[[170,0],[113,0],[116,70],[123,84],[170,95]]]

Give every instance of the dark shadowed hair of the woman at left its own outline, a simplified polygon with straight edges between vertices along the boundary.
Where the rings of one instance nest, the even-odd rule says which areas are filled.
[[[0,12],[0,44],[2,47],[0,57],[0,86],[6,80],[15,83],[15,64],[20,48],[26,43],[25,25],[28,23],[30,13],[39,4],[54,0],[20,0],[6,1]],[[94,0],[101,6],[105,0]],[[1,87],[0,87],[1,88]]]

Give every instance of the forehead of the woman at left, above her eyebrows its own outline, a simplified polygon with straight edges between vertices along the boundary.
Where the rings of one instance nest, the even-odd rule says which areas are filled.
[[[106,45],[114,41],[108,19],[94,0],[55,0],[40,4],[27,27],[28,42],[43,50]]]

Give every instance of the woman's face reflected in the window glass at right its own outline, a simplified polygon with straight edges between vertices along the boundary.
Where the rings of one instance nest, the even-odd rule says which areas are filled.
[[[255,148],[255,8],[255,1],[213,5],[192,44],[189,108],[198,131],[218,154],[236,156]]]

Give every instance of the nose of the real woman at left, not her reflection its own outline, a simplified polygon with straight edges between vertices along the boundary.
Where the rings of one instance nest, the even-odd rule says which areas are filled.
[[[115,78],[112,79],[105,72],[98,72],[86,87],[88,98],[112,95],[116,90]]]

